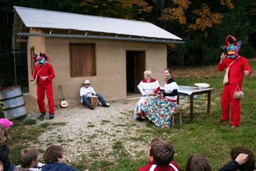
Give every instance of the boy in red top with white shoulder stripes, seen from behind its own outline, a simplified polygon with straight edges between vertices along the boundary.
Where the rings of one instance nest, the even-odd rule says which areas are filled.
[[[174,149],[170,142],[162,139],[153,139],[149,145],[147,157],[148,165],[141,167],[138,171],[178,171],[178,165],[172,161]]]

